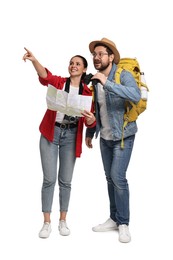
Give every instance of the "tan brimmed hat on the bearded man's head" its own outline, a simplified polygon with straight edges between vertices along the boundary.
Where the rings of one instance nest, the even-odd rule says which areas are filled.
[[[112,42],[111,40],[107,39],[107,38],[102,38],[100,41],[98,40],[98,41],[90,42],[89,50],[90,50],[91,53],[93,53],[95,45],[98,44],[98,43],[104,44],[105,46],[108,46],[109,49],[111,49],[111,51],[114,54],[114,62],[115,62],[115,64],[118,64],[118,62],[120,60],[120,54],[117,50],[115,43]]]

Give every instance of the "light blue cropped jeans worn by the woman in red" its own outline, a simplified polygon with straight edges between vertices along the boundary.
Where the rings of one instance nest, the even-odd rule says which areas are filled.
[[[68,211],[71,181],[76,161],[76,133],[77,127],[61,129],[55,126],[53,142],[49,142],[43,135],[40,137],[40,155],[43,169],[42,212],[51,212],[52,209],[58,163],[60,211]]]

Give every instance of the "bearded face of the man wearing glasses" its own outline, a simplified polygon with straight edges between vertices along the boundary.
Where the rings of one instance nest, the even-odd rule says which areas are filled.
[[[94,67],[98,71],[106,70],[110,63],[112,63],[112,58],[110,59],[112,55],[108,54],[104,46],[97,46],[92,55]]]

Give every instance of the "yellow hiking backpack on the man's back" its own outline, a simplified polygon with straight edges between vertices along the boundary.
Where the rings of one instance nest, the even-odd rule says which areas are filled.
[[[142,74],[139,66],[139,62],[136,58],[121,58],[118,65],[117,70],[115,72],[115,82],[117,84],[120,84],[120,74],[122,70],[126,70],[131,72],[133,75],[138,87],[141,89],[142,87],[146,88],[147,91],[148,87],[145,82],[142,81]],[[124,147],[124,128],[129,122],[136,121],[138,116],[144,112],[147,108],[147,100],[141,98],[137,104],[128,101],[126,102],[126,112],[124,114],[124,125],[123,125],[123,136],[122,136],[122,143],[121,147]]]

